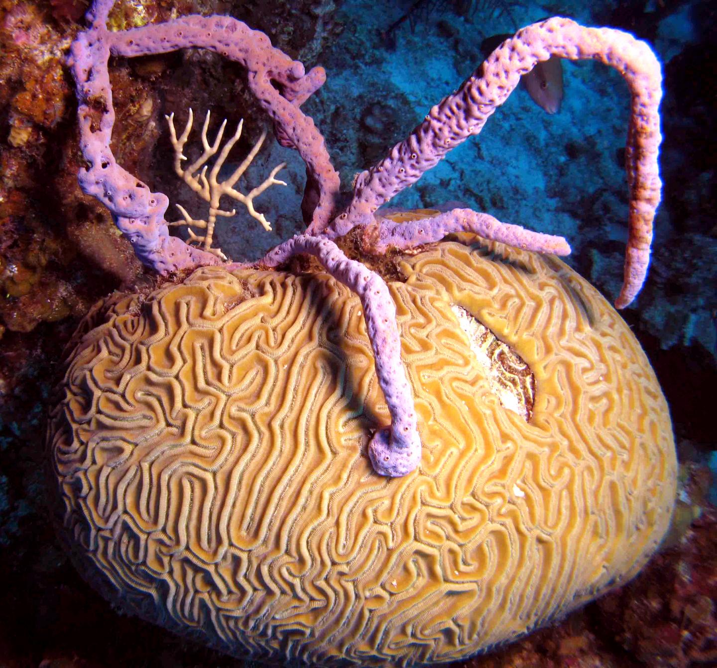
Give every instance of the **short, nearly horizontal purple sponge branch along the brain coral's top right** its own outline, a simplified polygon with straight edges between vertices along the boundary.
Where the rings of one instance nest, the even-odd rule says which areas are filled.
[[[387,218],[376,226],[378,235],[374,243],[369,242],[369,251],[384,253],[389,248],[412,248],[420,243],[440,241],[454,232],[473,232],[486,239],[507,243],[526,251],[569,255],[570,246],[561,236],[532,232],[519,225],[501,223],[488,213],[476,213],[470,209],[452,209],[432,218],[395,223]],[[371,237],[369,233],[366,235]]]

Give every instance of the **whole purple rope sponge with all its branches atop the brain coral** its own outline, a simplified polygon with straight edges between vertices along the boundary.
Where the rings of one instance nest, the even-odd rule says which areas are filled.
[[[599,60],[617,69],[630,87],[632,105],[626,146],[629,238],[625,281],[616,306],[627,306],[640,291],[650,260],[652,220],[662,187],[657,167],[662,75],[655,54],[645,42],[619,30],[585,28],[561,17],[521,29],[490,54],[457,92],[432,107],[407,140],[356,178],[351,203],[342,212],[337,205],[338,173],[313,120],[300,110],[300,105],[326,80],[323,68],[305,72],[302,63],[272,47],[265,34],[229,16],[191,15],[109,32],[107,17],[113,2],[95,1],[87,13],[91,26],[77,35],[70,53],[80,103],[82,153],[89,163],[78,177],[82,190],[110,210],[138,258],[160,274],[221,263],[214,253],[169,236],[164,219],[166,195],[151,193],[147,185],[117,164],[110,150],[115,113],[108,59],[110,53],[135,57],[201,47],[242,64],[250,73],[250,89],[274,123],[277,140],[298,150],[307,166],[302,205],[308,223],[306,233],[280,244],[257,265],[276,267],[297,253],[310,253],[329,274],[359,295],[376,375],[391,414],[391,426],[378,430],[369,443],[369,456],[377,473],[406,475],[419,464],[421,442],[413,397],[401,362],[396,309],[386,284],[363,264],[348,259],[333,239],[359,228],[366,248],[378,253],[391,246],[410,248],[439,241],[454,231],[470,231],[531,251],[568,254],[569,245],[562,237],[531,232],[468,209],[453,209],[414,223],[394,223],[374,215],[450,149],[477,135],[521,76],[551,56]],[[205,236],[211,241],[209,232]]]

